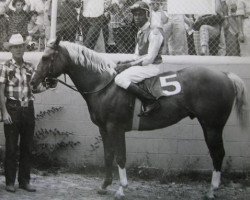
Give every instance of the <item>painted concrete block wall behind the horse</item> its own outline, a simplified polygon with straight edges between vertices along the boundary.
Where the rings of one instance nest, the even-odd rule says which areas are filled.
[[[25,58],[34,63],[40,56],[39,53],[25,54]],[[106,56],[114,60],[128,57],[128,55]],[[10,54],[1,53],[0,61],[9,57]],[[234,72],[244,80],[250,93],[250,58],[170,56],[164,57],[164,60],[169,63],[168,68],[172,70],[205,66]],[[70,83],[69,78],[67,82]],[[249,100],[248,102],[250,103]],[[90,121],[87,106],[78,93],[59,84],[56,90],[36,95],[35,104],[36,113],[51,106],[63,106],[61,112],[37,122],[37,126],[67,130],[75,134],[74,139],[81,144],[63,153],[70,164],[103,165],[102,145],[91,152],[91,144],[94,144],[96,137],[99,136],[98,128]],[[212,169],[212,162],[197,120],[186,118],[176,125],[156,131],[132,131],[127,133],[126,142],[128,165],[144,164],[166,170]],[[0,143],[2,145],[4,143],[2,127],[0,127]],[[224,169],[250,170],[250,127],[248,126],[245,131],[241,130],[234,111],[224,129],[224,144],[226,150]]]

